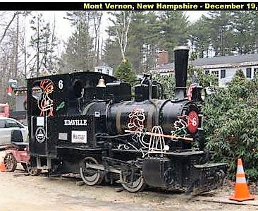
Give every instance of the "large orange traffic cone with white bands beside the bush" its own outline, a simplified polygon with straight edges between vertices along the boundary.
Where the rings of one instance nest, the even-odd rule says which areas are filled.
[[[235,194],[229,199],[244,201],[244,200],[254,200],[254,196],[250,195],[248,186],[245,179],[244,168],[242,167],[242,159],[238,158],[238,169],[235,179]]]

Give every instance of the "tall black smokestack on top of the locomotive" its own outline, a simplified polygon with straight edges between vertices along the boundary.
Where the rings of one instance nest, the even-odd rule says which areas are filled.
[[[188,52],[186,46],[173,49],[175,57],[176,98],[183,100],[186,97],[186,79],[188,75]]]

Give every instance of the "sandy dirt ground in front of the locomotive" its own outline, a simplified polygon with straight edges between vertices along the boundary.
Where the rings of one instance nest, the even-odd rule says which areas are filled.
[[[21,176],[24,171],[19,169],[10,173],[0,171],[0,210],[258,210],[258,197],[244,203],[228,200],[233,193],[231,183],[201,196],[155,189],[128,193],[118,192],[118,185],[81,186],[80,179],[75,177]],[[257,188],[251,187],[250,192],[257,193]]]

